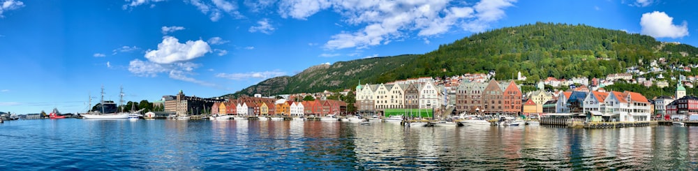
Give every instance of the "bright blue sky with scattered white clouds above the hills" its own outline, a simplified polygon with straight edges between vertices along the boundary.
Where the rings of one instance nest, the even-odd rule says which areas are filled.
[[[695,1],[0,0],[0,111],[84,112],[117,101],[233,93],[365,57],[423,54],[535,22],[588,24],[698,45]]]

